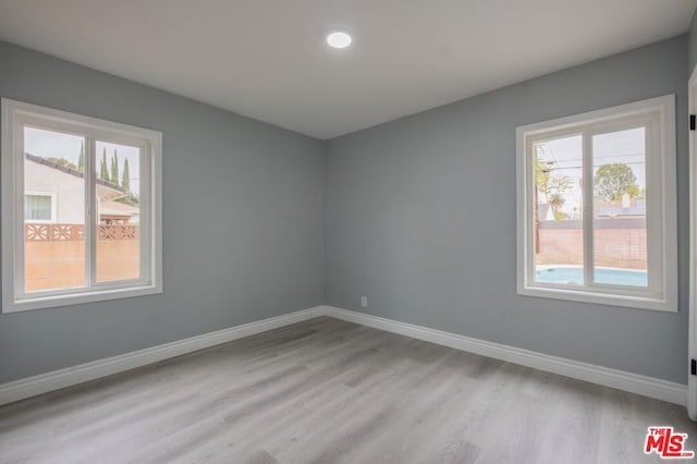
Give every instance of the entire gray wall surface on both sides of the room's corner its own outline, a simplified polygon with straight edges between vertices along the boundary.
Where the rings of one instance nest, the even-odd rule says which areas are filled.
[[[164,293],[0,315],[0,383],[322,302],[360,310],[362,295],[369,314],[684,383],[680,122],[696,38],[326,144],[0,42],[1,96],[164,142]],[[515,126],[665,94],[677,94],[680,314],[517,296]]]

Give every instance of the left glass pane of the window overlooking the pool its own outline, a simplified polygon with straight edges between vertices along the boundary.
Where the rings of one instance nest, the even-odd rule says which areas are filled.
[[[584,283],[580,135],[539,142],[535,154],[535,279]]]

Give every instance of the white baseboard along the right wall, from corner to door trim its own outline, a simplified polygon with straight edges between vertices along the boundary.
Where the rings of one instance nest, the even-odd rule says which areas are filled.
[[[612,387],[617,390],[628,391],[631,393],[637,393],[683,406],[687,402],[687,386],[682,383],[670,382],[653,377],[640,376],[638,374],[611,369],[563,357],[550,356],[529,350],[487,342],[412,323],[399,322],[396,320],[384,319],[354,310],[327,306],[323,309],[323,314],[337,319],[360,323],[363,326],[372,327],[387,332],[399,333],[413,339],[424,340],[439,345],[450,346],[455,350],[480,354],[578,380],[585,380],[587,382]]]

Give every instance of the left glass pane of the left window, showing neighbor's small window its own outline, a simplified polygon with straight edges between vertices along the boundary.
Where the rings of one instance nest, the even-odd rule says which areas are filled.
[[[24,127],[27,292],[85,285],[84,144],[76,135]]]

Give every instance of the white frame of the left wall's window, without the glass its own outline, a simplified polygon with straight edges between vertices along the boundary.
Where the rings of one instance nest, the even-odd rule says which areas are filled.
[[[2,98],[2,313],[162,293],[162,134],[132,125]],[[84,136],[86,286],[24,290],[24,131],[37,126]],[[96,142],[140,148],[140,273],[138,279],[96,278]],[[91,172],[91,175],[89,173]],[[89,239],[89,240],[88,240]]]

